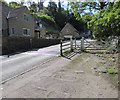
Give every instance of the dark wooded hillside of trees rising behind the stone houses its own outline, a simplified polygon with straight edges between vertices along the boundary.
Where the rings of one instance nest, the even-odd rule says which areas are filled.
[[[10,2],[9,6],[18,8],[23,6],[23,3],[25,2]],[[49,29],[49,32],[58,33],[58,30],[61,30],[68,22],[71,23],[78,31],[83,31],[84,27],[86,27],[86,24],[81,20],[79,13],[73,14],[69,12],[68,9],[65,10],[62,2],[58,2],[58,5],[56,2],[49,2],[48,7],[41,7],[41,3],[42,2],[35,3],[30,0],[27,1],[28,9],[31,14],[36,14],[39,17],[39,20],[55,27],[54,30]]]

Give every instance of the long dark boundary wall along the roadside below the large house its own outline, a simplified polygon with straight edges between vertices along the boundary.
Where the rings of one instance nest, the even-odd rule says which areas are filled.
[[[47,47],[59,44],[59,39],[36,39],[30,37],[2,38],[2,54],[26,51],[33,48]]]

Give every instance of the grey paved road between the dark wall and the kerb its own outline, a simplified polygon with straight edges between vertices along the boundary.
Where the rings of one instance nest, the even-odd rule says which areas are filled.
[[[51,57],[59,54],[59,48],[60,45],[54,45],[11,55],[9,57],[7,55],[1,56],[0,69],[2,76],[0,76],[0,80],[5,81],[21,72],[40,65]]]

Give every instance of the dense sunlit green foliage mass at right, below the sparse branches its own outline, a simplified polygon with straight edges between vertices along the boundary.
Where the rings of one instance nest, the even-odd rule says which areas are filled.
[[[113,7],[108,6],[92,15],[92,20],[88,22],[88,27],[96,37],[108,37],[118,35],[120,32],[120,2],[115,2]]]

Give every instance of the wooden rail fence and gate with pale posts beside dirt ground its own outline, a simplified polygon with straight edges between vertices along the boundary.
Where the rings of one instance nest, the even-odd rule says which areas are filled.
[[[79,42],[79,43],[78,43]],[[70,39],[70,43],[67,42],[63,42],[61,40],[61,45],[60,45],[60,54],[61,56],[63,56],[63,51],[66,49],[71,49],[71,51],[75,51],[75,50],[105,50],[106,46],[103,45],[97,45],[97,41],[96,40],[87,40],[84,37],[82,37],[82,39],[80,40],[76,40],[76,39]],[[68,47],[69,45],[69,47]],[[66,47],[67,46],[67,47]],[[66,47],[66,48],[64,48]]]

